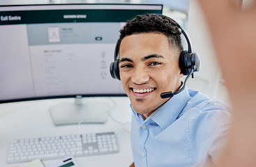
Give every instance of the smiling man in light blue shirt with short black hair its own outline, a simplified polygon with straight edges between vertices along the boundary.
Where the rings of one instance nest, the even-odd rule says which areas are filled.
[[[181,88],[181,30],[163,15],[138,15],[120,31],[121,84],[133,109],[132,166],[204,166],[218,159],[227,132],[225,105]]]

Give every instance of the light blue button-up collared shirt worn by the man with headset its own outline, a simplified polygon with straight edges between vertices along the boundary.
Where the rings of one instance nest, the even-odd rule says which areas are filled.
[[[216,162],[229,129],[227,109],[225,104],[185,88],[146,120],[133,110],[135,166],[192,167]]]

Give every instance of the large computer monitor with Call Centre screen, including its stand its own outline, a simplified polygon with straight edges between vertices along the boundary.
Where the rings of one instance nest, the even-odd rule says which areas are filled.
[[[50,108],[55,125],[107,120],[108,104],[82,97],[126,96],[109,67],[119,29],[149,4],[0,6],[0,103],[75,97]]]

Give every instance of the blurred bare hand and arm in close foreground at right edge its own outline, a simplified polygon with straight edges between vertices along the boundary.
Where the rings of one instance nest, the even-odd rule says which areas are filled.
[[[220,166],[256,166],[256,6],[199,0],[233,107],[232,128]]]

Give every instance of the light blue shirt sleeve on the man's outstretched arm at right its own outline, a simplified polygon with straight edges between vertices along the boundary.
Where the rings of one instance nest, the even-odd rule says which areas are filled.
[[[188,125],[197,160],[202,166],[216,164],[230,128],[229,108],[220,102],[210,102],[197,109],[199,112]]]

